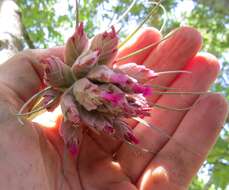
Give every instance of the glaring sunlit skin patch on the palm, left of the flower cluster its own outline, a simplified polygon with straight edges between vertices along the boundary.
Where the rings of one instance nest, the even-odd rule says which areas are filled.
[[[47,128],[53,128],[56,126],[57,119],[62,115],[61,108],[58,106],[53,112],[45,112],[37,117],[35,117],[32,121],[41,124]]]

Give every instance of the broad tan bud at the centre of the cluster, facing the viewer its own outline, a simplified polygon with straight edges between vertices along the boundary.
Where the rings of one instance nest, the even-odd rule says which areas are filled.
[[[82,78],[75,82],[73,94],[76,101],[88,111],[95,110],[99,105],[102,105],[101,89],[87,78]]]

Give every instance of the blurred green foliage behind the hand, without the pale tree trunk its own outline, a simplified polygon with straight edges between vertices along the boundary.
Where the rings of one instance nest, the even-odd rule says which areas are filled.
[[[194,8],[189,13],[182,13],[180,20],[176,18],[177,7],[188,0],[165,0],[163,5],[168,11],[168,21],[165,33],[181,24],[188,24],[197,28],[203,36],[203,51],[213,53],[221,62],[222,72],[218,77],[213,91],[223,93],[229,100],[229,3],[227,0],[204,1],[193,0]],[[22,14],[22,22],[25,32],[28,34],[33,46],[46,48],[50,45],[64,43],[61,28],[69,28],[75,25],[75,10],[70,0],[67,1],[68,11],[60,15],[54,9],[58,0],[18,0]],[[117,15],[121,15],[131,4],[131,0],[81,0],[80,20],[86,25],[86,31],[93,36],[102,24],[109,23]],[[150,0],[148,1],[150,2]],[[140,22],[150,11],[152,5],[147,1],[137,1],[134,8],[120,22],[121,35],[126,35],[128,24]],[[160,28],[162,12],[157,13],[148,22]],[[28,40],[25,46],[31,47]],[[207,137],[206,137],[207,138]],[[208,180],[201,179],[201,171],[207,171]],[[190,190],[224,190],[229,184],[229,124],[225,125],[216,146],[211,151],[208,159],[200,171],[200,175],[193,179]]]

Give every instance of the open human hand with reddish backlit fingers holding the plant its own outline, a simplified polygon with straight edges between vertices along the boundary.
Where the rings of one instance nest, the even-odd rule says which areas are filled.
[[[157,30],[144,29],[119,52],[119,57],[160,38]],[[185,68],[192,74],[167,75],[151,83],[186,91],[207,91],[216,79],[219,65],[214,56],[199,54],[200,47],[200,34],[182,27],[156,48],[119,64],[136,62],[155,71]],[[79,164],[68,153],[63,162],[64,144],[58,127],[44,128],[31,122],[22,126],[15,117],[23,103],[40,89],[43,72],[39,61],[49,55],[63,58],[63,48],[25,51],[0,66],[1,189],[56,190],[61,183],[63,190],[81,190],[82,184],[86,190],[187,189],[223,127],[228,112],[223,96],[153,95],[151,103],[192,106],[183,112],[153,109],[151,117],[146,118],[171,135],[171,139],[130,121],[140,140],[139,146],[153,154],[139,151],[136,154],[137,150],[127,144],[87,131],[80,147]]]

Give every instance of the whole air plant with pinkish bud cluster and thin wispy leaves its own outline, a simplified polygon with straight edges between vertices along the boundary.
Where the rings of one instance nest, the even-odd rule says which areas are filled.
[[[130,7],[134,5],[134,2]],[[154,88],[145,85],[145,82],[165,74],[190,73],[185,70],[155,72],[136,63],[117,64],[119,61],[158,45],[176,32],[155,44],[117,59],[118,49],[142,27],[157,7],[163,8],[160,2],[154,4],[156,6],[147,18],[122,43],[119,43],[117,29],[113,25],[108,31],[99,33],[89,40],[84,31],[83,22],[78,22],[77,19],[75,33],[65,44],[64,60],[55,56],[42,60],[43,81],[46,88],[35,94],[22,106],[17,114],[19,121],[22,122],[21,117],[29,118],[31,114],[40,113],[41,110],[53,111],[60,105],[64,119],[59,132],[74,157],[79,154],[78,149],[85,130],[104,133],[137,147],[139,139],[135,137],[132,129],[125,122],[130,118],[171,138],[162,130],[146,122],[144,117],[150,115],[153,107],[175,111],[190,108],[151,105],[147,97],[154,93],[201,94],[202,92],[166,92],[163,91],[168,89],[166,87]],[[158,91],[158,89],[162,90]],[[34,100],[36,103],[33,109],[24,112]],[[150,152],[143,148],[140,150]]]

